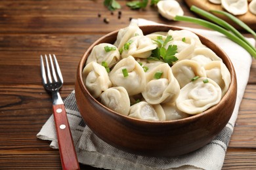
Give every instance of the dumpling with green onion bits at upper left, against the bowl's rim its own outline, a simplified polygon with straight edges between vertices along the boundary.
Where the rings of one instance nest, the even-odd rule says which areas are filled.
[[[102,61],[108,63],[108,67],[112,67],[120,58],[119,50],[113,44],[101,43],[93,47],[91,54],[88,56],[87,62],[95,61],[102,64]]]

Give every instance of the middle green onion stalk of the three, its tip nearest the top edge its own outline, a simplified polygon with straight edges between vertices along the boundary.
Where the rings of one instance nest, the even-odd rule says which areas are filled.
[[[224,27],[227,30],[230,30],[232,33],[234,33],[234,35],[236,35],[237,37],[242,39],[242,41],[247,43],[256,52],[256,49],[254,48],[254,46],[252,46],[251,43],[248,42],[247,39],[245,39],[245,37],[238,30],[236,30],[236,28],[234,28],[232,25],[228,24],[228,22],[222,20],[221,18],[218,18],[217,16],[215,16],[215,15],[213,15],[213,14],[211,14],[211,13],[205,11],[205,10],[202,10],[198,7],[195,7],[194,5],[192,5],[190,10],[196,12],[197,14],[200,14],[200,15],[204,16],[205,18],[208,18],[209,20],[215,22],[218,25],[221,25],[222,27]]]

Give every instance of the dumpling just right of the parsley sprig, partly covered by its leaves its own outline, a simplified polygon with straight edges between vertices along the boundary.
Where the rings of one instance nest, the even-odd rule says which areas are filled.
[[[167,49],[169,45],[177,45],[177,53],[175,54],[175,57],[181,61],[182,59],[190,58],[196,48],[196,41],[193,38],[186,37],[186,41],[180,39],[167,42],[165,48]]]

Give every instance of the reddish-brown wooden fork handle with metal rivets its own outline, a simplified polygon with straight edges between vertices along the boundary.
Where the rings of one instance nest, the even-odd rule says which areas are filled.
[[[53,105],[53,112],[62,169],[79,169],[64,104]]]

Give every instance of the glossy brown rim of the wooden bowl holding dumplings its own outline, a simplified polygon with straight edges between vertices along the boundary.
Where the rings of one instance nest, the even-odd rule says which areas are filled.
[[[142,25],[142,26],[139,26],[139,27],[144,32],[143,29],[146,29],[147,27],[152,27],[152,26],[156,27],[156,25]],[[190,30],[188,30],[186,28],[178,27],[178,26],[175,26],[175,25],[157,25],[157,27],[161,27],[159,29],[173,29],[173,30],[187,30],[187,31],[190,31]],[[81,60],[79,61],[79,65],[77,67],[77,81],[78,81],[77,83],[79,83],[81,88],[83,88],[82,91],[86,92],[89,95],[89,97],[91,99],[93,99],[93,101],[95,103],[97,103],[100,107],[102,107],[102,109],[105,109],[105,110],[108,110],[108,112],[111,112],[111,114],[114,114],[115,116],[119,116],[119,118],[122,118],[122,119],[125,119],[125,120],[128,120],[128,121],[138,122],[140,124],[154,124],[154,125],[160,125],[161,124],[161,125],[165,125],[165,124],[182,124],[182,122],[187,122],[187,121],[192,121],[193,122],[193,121],[197,120],[198,118],[201,118],[202,116],[205,116],[205,115],[211,113],[212,110],[214,110],[215,108],[217,108],[219,106],[219,103],[221,103],[223,101],[226,101],[228,99],[228,94],[230,93],[230,88],[232,86],[234,86],[234,88],[236,88],[236,90],[237,90],[236,72],[234,70],[234,65],[232,64],[232,61],[230,60],[230,58],[228,57],[226,52],[224,52],[224,50],[222,48],[220,48],[217,44],[215,44],[213,41],[210,41],[207,37],[205,37],[203,35],[200,35],[200,33],[195,33],[194,31],[191,31],[192,33],[195,33],[196,35],[198,35],[198,37],[200,38],[200,41],[202,41],[202,39],[204,39],[205,41],[208,41],[207,43],[213,45],[215,48],[217,48],[217,50],[219,52],[221,52],[223,54],[222,56],[224,56],[224,58],[225,58],[225,62],[223,61],[223,63],[226,65],[226,67],[228,67],[228,71],[230,71],[230,78],[231,78],[230,86],[228,87],[227,92],[221,98],[221,101],[219,101],[219,103],[217,103],[217,105],[213,105],[209,109],[207,109],[207,110],[205,110],[205,111],[203,111],[203,112],[201,112],[199,114],[193,114],[193,115],[188,116],[186,118],[181,118],[181,119],[178,119],[178,120],[164,120],[164,121],[140,120],[140,119],[137,119],[137,118],[132,118],[132,117],[129,117],[129,116],[125,116],[123,114],[115,112],[114,110],[109,109],[108,107],[102,105],[102,103],[100,103],[100,101],[95,99],[95,97],[93,97],[91,95],[89,90],[87,90],[87,88],[85,87],[85,84],[83,83],[82,72],[83,72],[83,68],[85,67],[85,63],[87,61],[87,58],[88,58],[89,54],[91,53],[91,50],[93,50],[93,47],[96,44],[102,43],[101,41],[104,42],[104,39],[110,39],[110,37],[112,37],[114,35],[116,37],[119,30],[120,29],[117,29],[115,31],[107,33],[106,35],[103,35],[102,37],[97,39],[95,42],[93,42],[93,44],[91,44],[89,46],[89,48],[87,48],[87,50],[83,54]],[[154,32],[152,32],[152,33],[154,33]],[[209,44],[207,45],[207,47],[209,46]],[[216,53],[216,49],[212,49],[212,48],[210,48],[210,49],[213,50],[213,52]],[[223,59],[223,57],[221,57],[221,59]]]

